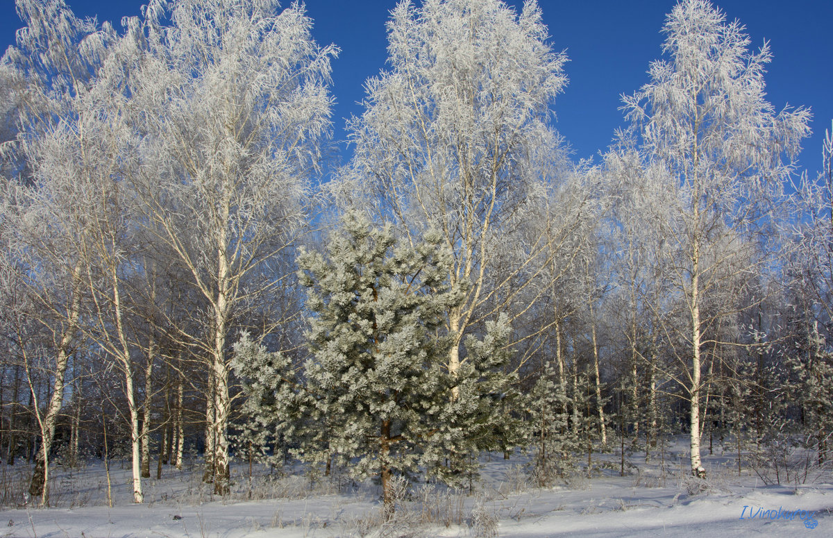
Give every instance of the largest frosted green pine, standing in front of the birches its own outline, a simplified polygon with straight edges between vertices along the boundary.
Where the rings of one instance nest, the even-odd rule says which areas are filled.
[[[447,277],[450,254],[432,233],[397,247],[391,226],[349,212],[327,254],[302,252],[298,263],[314,312],[305,391],[327,425],[326,438],[307,436],[301,456],[334,456],[352,476],[378,476],[390,516],[392,477],[419,469],[449,401],[442,313],[461,300]]]

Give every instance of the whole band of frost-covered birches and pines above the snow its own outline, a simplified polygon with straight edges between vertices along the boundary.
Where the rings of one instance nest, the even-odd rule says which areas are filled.
[[[711,3],[666,17],[594,164],[553,127],[536,2],[401,2],[323,184],[338,51],[302,6],[17,10],[0,457],[42,504],[84,457],[129,459],[142,502],[152,458],[202,455],[223,495],[232,456],[291,456],[378,476],[388,514],[393,475],[465,486],[516,447],[541,486],[674,433],[698,477],[715,437],[739,472],[829,466],[833,134],[796,177],[810,111],[766,101],[769,48]]]

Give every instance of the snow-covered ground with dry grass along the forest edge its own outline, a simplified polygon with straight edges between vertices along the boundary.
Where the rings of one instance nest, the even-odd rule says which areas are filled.
[[[718,453],[705,457],[710,478],[703,492],[696,491],[700,482],[684,478],[682,439],[666,455],[665,471],[658,460],[646,465],[644,454],[636,453],[631,474],[619,476],[616,454],[594,455],[601,467],[595,476],[550,489],[526,484],[524,456],[491,457],[473,494],[416,486],[385,525],[380,492],[370,483],[342,478],[312,485],[302,476],[260,476],[250,487],[242,464],[233,468],[234,491],[226,499],[212,498],[198,466],[166,466],[162,480],[145,481],[144,505],[130,502],[129,472],[114,465],[110,508],[103,467],[89,464],[80,471],[54,471],[52,500],[58,507],[0,510],[0,536],[833,536],[829,477],[764,486],[749,470],[737,476],[732,456]],[[7,487],[16,473],[23,479],[21,466],[4,472]]]

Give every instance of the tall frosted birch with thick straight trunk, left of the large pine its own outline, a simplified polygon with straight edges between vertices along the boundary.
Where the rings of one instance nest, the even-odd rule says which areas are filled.
[[[327,133],[332,47],[303,7],[274,0],[161,2],[131,22],[128,121],[141,135],[131,178],[140,222],[176,257],[206,308],[174,327],[207,361],[207,480],[228,491],[227,334],[290,273],[307,218],[308,177]]]

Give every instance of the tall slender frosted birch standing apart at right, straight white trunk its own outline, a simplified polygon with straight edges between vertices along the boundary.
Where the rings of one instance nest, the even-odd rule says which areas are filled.
[[[771,224],[809,112],[776,112],[763,78],[768,45],[750,52],[740,22],[726,22],[709,2],[678,3],[663,32],[667,59],[651,63],[651,82],[626,97],[624,109],[646,159],[668,177],[671,196],[656,197],[650,211],[687,319],[670,343],[685,363],[691,471],[705,476],[704,354],[726,343],[712,329],[735,315],[736,299],[744,295],[739,289],[764,265],[763,249],[753,248],[755,234],[766,235]]]

